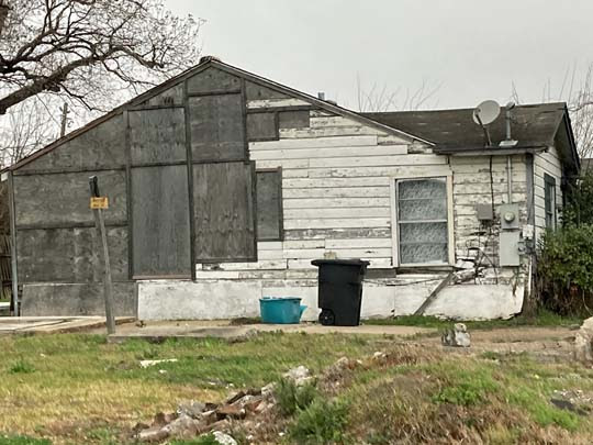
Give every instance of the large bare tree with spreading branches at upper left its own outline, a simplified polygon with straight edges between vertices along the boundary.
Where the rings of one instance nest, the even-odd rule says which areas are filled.
[[[138,93],[199,57],[201,21],[172,15],[163,0],[0,4],[0,114],[42,93],[104,111],[120,92]]]

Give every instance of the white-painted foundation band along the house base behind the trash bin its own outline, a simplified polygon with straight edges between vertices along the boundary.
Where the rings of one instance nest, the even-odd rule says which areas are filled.
[[[428,297],[438,281],[409,286],[365,283],[361,318],[409,315]],[[314,280],[158,280],[138,282],[141,320],[216,320],[259,316],[261,297],[299,297],[307,305],[303,321],[317,319]],[[523,287],[508,285],[459,285],[445,288],[426,315],[456,320],[507,319],[521,312]]]

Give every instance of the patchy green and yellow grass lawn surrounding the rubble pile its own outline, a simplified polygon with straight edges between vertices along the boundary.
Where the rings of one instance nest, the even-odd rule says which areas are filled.
[[[593,370],[525,355],[444,353],[385,337],[261,334],[245,342],[108,344],[103,336],[0,337],[0,444],[133,443],[130,431],[187,399],[219,401],[291,367],[315,374],[362,358],[322,386],[268,443],[593,443],[591,414],[550,403],[555,390],[593,394]],[[388,358],[373,360],[376,351]],[[142,359],[177,358],[143,369]],[[593,407],[584,407],[585,410]],[[309,441],[309,442],[307,442]],[[456,442],[457,441],[457,442]],[[183,442],[175,444],[209,444]],[[262,442],[260,442],[262,443]]]

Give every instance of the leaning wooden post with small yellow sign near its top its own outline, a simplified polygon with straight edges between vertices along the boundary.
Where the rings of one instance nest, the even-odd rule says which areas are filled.
[[[105,221],[103,219],[103,209],[109,208],[109,200],[107,197],[101,197],[99,193],[99,179],[97,176],[91,176],[89,178],[90,187],[90,208],[94,214],[94,225],[97,232],[101,236],[101,244],[103,246],[103,297],[105,299],[105,319],[108,334],[115,333],[115,319],[113,318],[113,304],[112,304],[112,289],[113,285],[111,282],[111,265],[109,263],[109,247],[107,244],[107,231],[105,231]]]

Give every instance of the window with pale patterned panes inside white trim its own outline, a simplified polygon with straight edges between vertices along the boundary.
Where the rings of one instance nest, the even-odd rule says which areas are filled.
[[[446,178],[396,182],[400,264],[443,264],[448,259]]]

